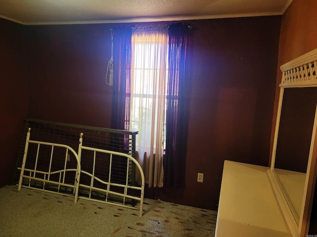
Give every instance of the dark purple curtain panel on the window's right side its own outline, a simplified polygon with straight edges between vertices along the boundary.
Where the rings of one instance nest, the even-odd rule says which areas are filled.
[[[188,136],[188,83],[186,80],[187,25],[173,24],[169,35],[166,152],[163,160],[164,186],[185,187]]]

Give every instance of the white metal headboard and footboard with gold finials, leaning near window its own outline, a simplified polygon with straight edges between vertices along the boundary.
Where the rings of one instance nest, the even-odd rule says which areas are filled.
[[[121,206],[121,207],[128,207],[128,208],[131,208],[131,209],[139,210],[140,211],[139,216],[140,217],[142,216],[142,214],[143,214],[143,199],[144,199],[145,179],[144,179],[144,173],[143,173],[142,167],[141,167],[141,165],[139,164],[139,162],[135,158],[131,157],[130,155],[124,154],[124,153],[119,153],[119,152],[114,152],[114,151],[107,151],[107,150],[102,150],[102,149],[97,149],[97,148],[83,146],[83,138],[82,138],[83,137],[83,133],[80,134],[79,146],[78,146],[78,154],[77,154],[71,147],[69,147],[67,145],[64,145],[64,144],[56,144],[56,143],[49,143],[49,142],[30,140],[30,131],[31,131],[31,128],[28,128],[28,132],[27,132],[27,136],[26,136],[26,142],[25,142],[24,155],[23,155],[23,161],[22,161],[21,168],[18,168],[18,169],[21,169],[19,183],[18,183],[18,191],[21,190],[21,187],[25,187],[25,188],[29,188],[29,189],[41,190],[41,191],[54,193],[54,194],[59,194],[59,195],[63,195],[63,196],[74,197],[74,203],[77,203],[78,198],[80,198],[80,199],[87,199],[87,200],[93,200],[93,201],[97,201],[97,202],[107,203],[107,204],[111,204],[111,205],[117,205],[117,206]],[[29,143],[38,144],[34,169],[25,168]],[[52,147],[52,149],[51,149],[51,157],[50,157],[50,166],[48,168],[48,171],[37,170],[37,163],[38,163],[38,161],[40,159],[39,150],[40,150],[40,146],[41,145],[51,146]],[[65,152],[65,161],[64,161],[64,169],[55,170],[55,171],[51,170],[52,161],[53,161],[54,147],[65,148],[65,150],[66,150],[66,152]],[[89,173],[87,171],[81,170],[80,160],[81,160],[81,157],[82,157],[82,151],[83,150],[92,151],[94,153],[94,158],[93,158],[94,159],[93,160],[94,165],[93,165],[93,172],[92,173]],[[67,162],[68,162],[68,159],[69,159],[69,154],[68,154],[69,151],[76,158],[77,168],[67,168]],[[109,156],[110,156],[109,174],[108,174],[107,181],[101,180],[101,179],[99,179],[98,177],[95,176],[95,161],[96,161],[96,154],[98,154],[98,153],[109,154]],[[123,157],[123,158],[127,159],[127,164],[128,165],[127,165],[127,170],[126,170],[125,184],[111,182],[112,160],[113,160],[113,158],[117,158],[117,157]],[[130,168],[129,167],[130,166],[129,163],[131,163],[129,161],[132,161],[132,163],[135,164],[135,166],[139,169],[139,173],[141,175],[141,186],[131,185],[128,182],[129,181],[129,168]],[[29,172],[28,175],[25,174],[27,172]],[[74,184],[69,184],[69,182],[68,183],[65,182],[65,174],[66,174],[66,172],[75,172],[75,179],[73,180]],[[42,175],[42,177],[44,177],[44,178],[36,177],[37,174]],[[52,174],[59,174],[58,182],[50,180],[50,177],[51,177]],[[85,185],[85,184],[81,184],[80,183],[81,174],[85,174],[85,175],[90,176],[90,179],[91,179],[90,180],[90,185]],[[26,179],[29,180],[28,185],[23,185],[22,184],[23,178],[26,178]],[[32,187],[31,186],[31,180],[43,182],[43,188],[40,189],[40,188]],[[98,181],[99,183],[102,183],[102,184],[106,185],[106,189],[94,187],[94,182],[95,181]],[[57,185],[57,191],[47,190],[45,188],[45,184],[46,183]],[[111,186],[112,187],[119,187],[121,189],[123,188],[124,192],[120,193],[120,192],[111,191],[110,190]],[[60,187],[73,189],[73,194],[67,194],[65,192],[60,192]],[[79,188],[80,187],[89,190],[89,196],[88,197],[79,195]],[[140,192],[140,195],[139,196],[129,195],[128,194],[128,189],[138,190]],[[105,193],[106,194],[105,200],[94,198],[91,195],[92,191]],[[122,197],[123,198],[123,202],[122,203],[117,203],[117,202],[109,201],[108,200],[108,196],[109,195],[116,195],[116,196]],[[126,203],[126,198],[133,199],[133,200],[136,200],[136,201],[140,201],[140,207],[135,207],[135,206],[127,204]]]

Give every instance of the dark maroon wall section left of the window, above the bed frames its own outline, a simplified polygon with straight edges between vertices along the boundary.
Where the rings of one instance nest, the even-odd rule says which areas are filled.
[[[110,126],[109,27],[28,26],[33,51],[29,117]]]

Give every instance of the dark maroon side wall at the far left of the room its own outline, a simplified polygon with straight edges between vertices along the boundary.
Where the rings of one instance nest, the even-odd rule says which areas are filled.
[[[0,187],[10,183],[28,111],[23,26],[0,18]]]

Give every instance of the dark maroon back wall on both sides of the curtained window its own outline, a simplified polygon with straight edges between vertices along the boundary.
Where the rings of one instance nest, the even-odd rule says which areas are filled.
[[[225,159],[268,165],[280,21],[272,16],[187,22],[194,29],[186,187],[149,189],[147,197],[216,210]],[[121,25],[25,26],[28,116],[109,127],[109,30]],[[203,184],[197,172],[205,174]]]

